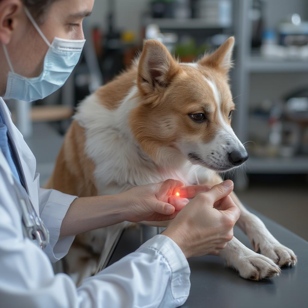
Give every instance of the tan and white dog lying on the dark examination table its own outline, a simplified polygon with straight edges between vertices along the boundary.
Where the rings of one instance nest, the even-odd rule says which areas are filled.
[[[116,194],[168,178],[186,184],[220,183],[216,172],[248,158],[230,126],[233,45],[230,37],[213,54],[185,64],[158,41],[145,41],[128,71],[79,105],[48,188],[84,197]],[[235,194],[232,197],[241,209],[237,225],[255,252],[233,237],[221,252],[227,264],[253,280],[279,274],[278,265],[295,265],[294,252],[280,244]],[[102,251],[103,234],[95,230],[76,237],[72,249],[81,253],[79,261],[93,260],[92,252]],[[76,269],[82,264],[76,259],[71,263]]]

